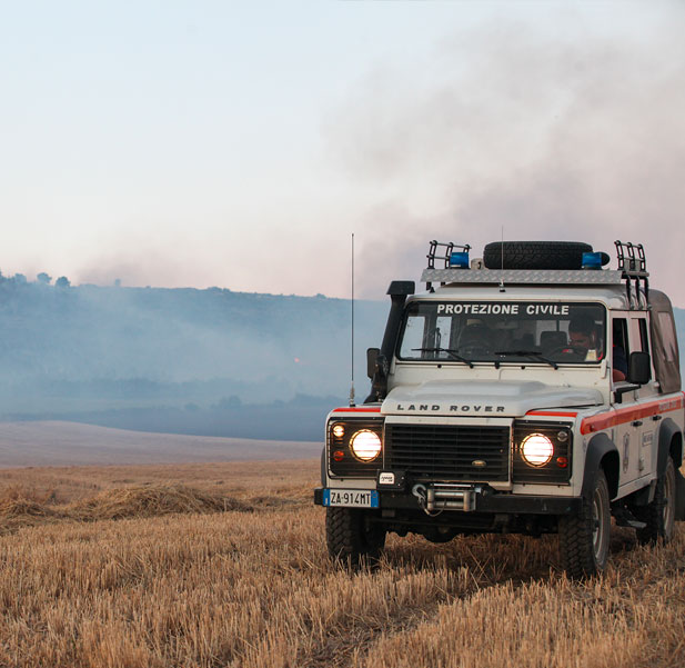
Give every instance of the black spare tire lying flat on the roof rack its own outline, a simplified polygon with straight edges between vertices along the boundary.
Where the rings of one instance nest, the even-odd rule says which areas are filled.
[[[483,263],[487,269],[580,269],[584,252],[592,252],[592,246],[577,241],[493,241],[483,250]]]

